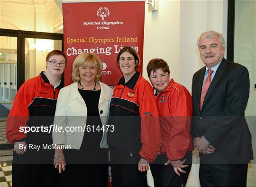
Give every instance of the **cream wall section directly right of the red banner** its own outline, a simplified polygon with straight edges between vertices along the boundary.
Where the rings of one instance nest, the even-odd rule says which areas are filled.
[[[180,1],[160,0],[158,11],[147,11],[145,6],[143,76],[150,59],[161,58],[169,64],[171,76],[180,79]]]

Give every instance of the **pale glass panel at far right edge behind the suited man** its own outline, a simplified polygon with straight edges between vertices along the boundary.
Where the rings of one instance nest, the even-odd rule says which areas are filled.
[[[249,71],[250,95],[245,111],[252,134],[254,160],[248,165],[247,186],[256,186],[256,1],[235,1],[234,61]]]

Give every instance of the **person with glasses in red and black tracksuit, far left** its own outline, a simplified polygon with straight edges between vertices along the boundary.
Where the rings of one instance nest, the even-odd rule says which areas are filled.
[[[52,131],[44,132],[44,129],[53,124],[66,62],[63,51],[49,52],[46,72],[27,80],[15,96],[6,124],[6,137],[14,144],[13,187],[57,186],[58,172],[53,167],[55,150],[43,148],[52,144]],[[31,127],[32,131],[25,133],[26,127]],[[35,132],[36,127],[38,131]]]

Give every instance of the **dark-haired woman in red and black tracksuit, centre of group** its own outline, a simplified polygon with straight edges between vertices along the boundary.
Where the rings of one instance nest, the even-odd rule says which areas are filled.
[[[151,85],[136,71],[140,60],[132,47],[119,51],[123,76],[110,102],[108,131],[113,186],[147,186],[148,162],[160,150],[161,131]]]

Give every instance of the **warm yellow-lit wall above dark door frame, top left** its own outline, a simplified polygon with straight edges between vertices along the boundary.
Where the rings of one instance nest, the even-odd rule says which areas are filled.
[[[62,11],[53,0],[0,1],[0,28],[6,28],[2,23],[6,21],[20,30],[53,33],[53,23],[60,16]]]

